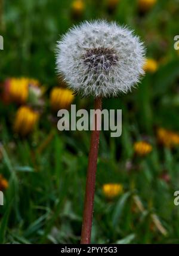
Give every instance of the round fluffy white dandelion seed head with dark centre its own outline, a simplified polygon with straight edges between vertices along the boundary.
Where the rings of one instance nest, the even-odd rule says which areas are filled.
[[[82,96],[117,96],[144,74],[144,53],[129,29],[103,20],[84,22],[58,41],[57,71]]]

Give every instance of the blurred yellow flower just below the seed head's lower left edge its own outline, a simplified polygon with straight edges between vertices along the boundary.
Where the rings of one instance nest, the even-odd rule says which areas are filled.
[[[50,94],[50,105],[54,111],[67,109],[74,99],[72,91],[69,89],[54,87]]]

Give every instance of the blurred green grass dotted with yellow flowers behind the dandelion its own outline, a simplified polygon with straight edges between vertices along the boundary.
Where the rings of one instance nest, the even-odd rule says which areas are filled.
[[[60,35],[83,20],[128,25],[147,48],[122,136],[101,132],[92,243],[179,243],[178,0],[0,0],[0,243],[79,243],[90,132],[58,132],[57,111],[93,108],[55,74]]]

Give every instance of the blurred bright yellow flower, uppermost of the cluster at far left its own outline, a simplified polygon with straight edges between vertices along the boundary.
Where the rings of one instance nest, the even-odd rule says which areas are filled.
[[[25,103],[29,95],[29,86],[38,86],[39,82],[29,78],[11,78],[9,80],[10,99],[19,104]]]

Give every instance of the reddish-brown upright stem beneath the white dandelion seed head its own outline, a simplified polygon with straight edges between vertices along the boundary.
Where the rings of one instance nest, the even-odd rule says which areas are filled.
[[[97,97],[94,103],[94,109],[102,107],[101,97]],[[94,130],[91,133],[90,154],[88,157],[87,183],[84,203],[84,216],[82,222],[81,244],[91,242],[92,212],[94,206],[95,192],[95,173],[97,169],[98,145],[100,138],[100,129],[98,129],[98,115],[94,115]]]

